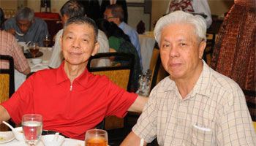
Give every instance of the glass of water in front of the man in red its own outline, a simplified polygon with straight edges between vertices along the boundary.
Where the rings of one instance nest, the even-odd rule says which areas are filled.
[[[22,128],[26,142],[34,146],[42,134],[42,115],[23,115]]]

